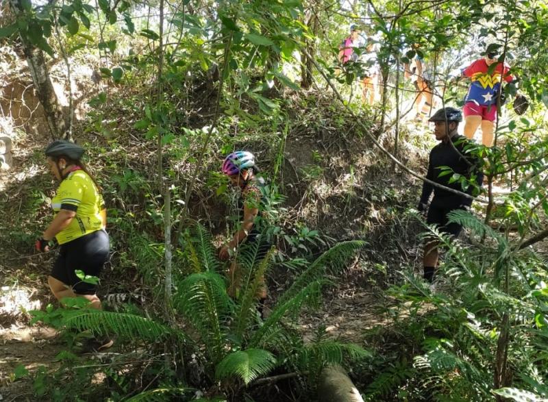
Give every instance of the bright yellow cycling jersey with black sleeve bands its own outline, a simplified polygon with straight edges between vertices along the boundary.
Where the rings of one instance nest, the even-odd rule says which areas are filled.
[[[101,211],[105,209],[105,202],[91,177],[81,169],[69,173],[61,181],[51,207],[55,212],[76,212],[69,226],[55,236],[59,244],[104,229]]]

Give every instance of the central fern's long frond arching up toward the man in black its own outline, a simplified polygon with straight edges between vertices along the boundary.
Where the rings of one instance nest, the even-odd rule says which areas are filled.
[[[299,275],[292,286],[279,299],[280,303],[284,303],[291,297],[294,297],[301,289],[308,284],[322,279],[327,271],[327,266],[331,266],[331,271],[335,273],[340,271],[345,266],[345,263],[353,255],[354,252],[364,247],[365,242],[362,240],[349,240],[335,244],[331,249],[320,255],[310,266]]]

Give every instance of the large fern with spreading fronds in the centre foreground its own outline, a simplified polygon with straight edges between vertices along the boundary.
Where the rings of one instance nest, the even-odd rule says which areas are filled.
[[[158,319],[135,314],[88,309],[66,312],[63,323],[66,327],[91,331],[96,335],[115,334],[119,340],[170,344],[176,339],[176,344],[187,345],[194,351],[194,359],[203,356],[201,364],[205,366],[210,385],[220,380],[221,384],[232,384],[229,387],[232,392],[268,375],[277,367],[317,374],[326,364],[369,355],[356,345],[323,338],[305,344],[294,326],[288,325],[288,321],[298,318],[303,305],[314,304],[321,297],[321,289],[327,283],[325,274],[340,271],[349,257],[364,246],[364,242],[341,242],[310,262],[279,297],[269,317],[262,321],[258,315],[256,294],[268,273],[273,255],[272,249],[266,255],[261,253],[265,238],[259,236],[258,241],[239,251],[240,292],[236,299],[231,299],[227,294],[224,267],[217,260],[210,234],[201,225],[192,227],[186,239],[186,267],[180,270],[186,274],[179,275],[174,281],[173,305],[178,314],[175,322],[182,326],[169,327]],[[147,392],[150,397],[161,398],[177,389],[164,387]]]

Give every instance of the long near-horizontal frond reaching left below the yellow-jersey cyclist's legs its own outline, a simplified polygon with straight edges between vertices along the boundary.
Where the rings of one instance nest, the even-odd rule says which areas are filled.
[[[159,340],[174,334],[186,338],[184,333],[148,318],[103,310],[74,310],[66,314],[64,324],[78,331],[91,331],[97,336],[114,334],[131,340]]]

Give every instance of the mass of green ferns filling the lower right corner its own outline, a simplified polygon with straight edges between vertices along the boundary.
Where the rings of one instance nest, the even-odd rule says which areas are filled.
[[[520,251],[519,242],[469,212],[451,212],[449,221],[467,229],[469,242],[426,227],[425,236],[445,250],[436,288],[407,271],[403,284],[390,289],[401,301],[393,316],[398,336],[409,344],[401,353],[413,362],[412,370],[404,382],[391,370],[380,373],[368,393],[386,400],[398,392],[434,401],[547,398],[548,288],[542,259]],[[505,326],[508,335],[501,338]],[[506,387],[495,386],[497,364],[504,368]],[[386,389],[384,383],[397,387]]]

